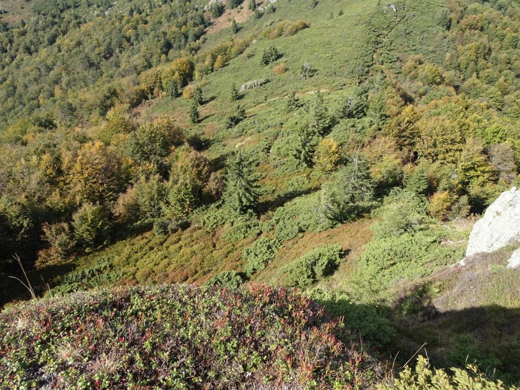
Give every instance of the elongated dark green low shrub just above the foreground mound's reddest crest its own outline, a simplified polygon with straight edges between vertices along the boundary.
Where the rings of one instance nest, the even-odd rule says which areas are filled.
[[[341,244],[326,244],[311,250],[284,268],[288,273],[285,283],[307,287],[317,279],[331,275],[341,262],[342,251]]]

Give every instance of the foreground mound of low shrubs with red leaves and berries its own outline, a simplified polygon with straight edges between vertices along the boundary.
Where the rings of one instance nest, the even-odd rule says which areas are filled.
[[[371,361],[284,288],[93,290],[0,314],[0,388],[356,388]],[[370,370],[369,370],[370,371]]]

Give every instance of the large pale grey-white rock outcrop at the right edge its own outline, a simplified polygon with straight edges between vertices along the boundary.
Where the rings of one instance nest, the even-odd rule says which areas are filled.
[[[473,226],[467,244],[466,257],[481,252],[494,252],[505,245],[518,241],[519,238],[520,190],[513,187],[509,191],[502,192],[500,197],[488,207],[484,216]],[[520,264],[520,253],[517,253],[516,256],[517,263]],[[461,264],[464,265],[464,260]]]

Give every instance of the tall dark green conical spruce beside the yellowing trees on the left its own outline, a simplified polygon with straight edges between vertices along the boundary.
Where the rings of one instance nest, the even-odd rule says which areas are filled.
[[[230,155],[226,161],[224,203],[233,214],[253,210],[258,200],[255,168],[242,151]]]

